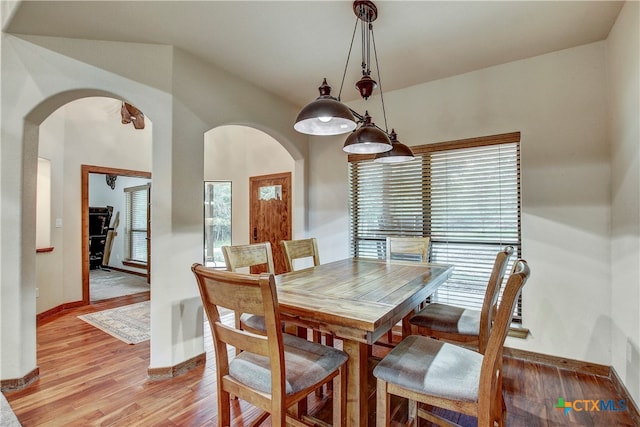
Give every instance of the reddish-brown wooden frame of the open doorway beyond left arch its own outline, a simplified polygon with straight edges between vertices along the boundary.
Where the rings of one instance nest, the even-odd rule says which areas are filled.
[[[91,303],[89,295],[89,174],[131,176],[136,178],[151,179],[151,172],[136,171],[130,169],[117,169],[104,166],[82,165],[80,174],[81,186],[81,229],[82,229],[82,302],[85,305]],[[147,211],[148,212],[148,211]],[[150,233],[150,231],[148,231]],[[149,240],[147,240],[148,242]],[[151,257],[147,251],[147,258]],[[147,276],[149,263],[147,262]]]

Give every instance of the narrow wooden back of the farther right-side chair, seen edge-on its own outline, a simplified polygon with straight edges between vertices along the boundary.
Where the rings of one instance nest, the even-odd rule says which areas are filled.
[[[484,354],[487,348],[489,334],[491,333],[492,323],[496,314],[498,296],[500,295],[500,288],[504,280],[504,272],[507,269],[507,264],[511,255],[513,255],[513,251],[513,246],[507,246],[496,254],[493,269],[487,282],[487,289],[484,294],[480,313],[480,331],[478,336],[478,350],[482,354]],[[516,263],[514,263],[514,268],[515,266]]]

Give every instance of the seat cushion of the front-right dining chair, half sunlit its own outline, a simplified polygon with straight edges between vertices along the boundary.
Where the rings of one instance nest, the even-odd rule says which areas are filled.
[[[477,402],[482,358],[472,350],[411,335],[378,363],[373,375],[420,393]]]

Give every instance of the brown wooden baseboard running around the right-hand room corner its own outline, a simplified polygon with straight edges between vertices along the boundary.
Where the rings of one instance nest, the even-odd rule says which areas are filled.
[[[613,383],[616,393],[618,393],[618,395],[627,403],[627,409],[633,419],[634,425],[640,426],[640,410],[638,410],[638,405],[631,398],[631,394],[629,394],[629,391],[613,366],[599,365],[597,363],[589,363],[558,356],[550,356],[547,354],[534,353],[532,351],[510,347],[504,347],[503,355],[512,359],[524,360],[526,362],[553,366],[558,369],[566,369],[609,379]]]

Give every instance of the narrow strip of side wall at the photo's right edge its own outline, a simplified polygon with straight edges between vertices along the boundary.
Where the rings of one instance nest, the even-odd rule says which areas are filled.
[[[640,402],[640,3],[607,40],[611,139],[612,365]]]

